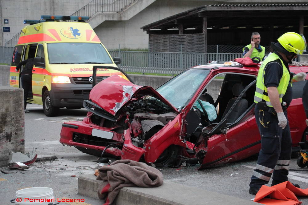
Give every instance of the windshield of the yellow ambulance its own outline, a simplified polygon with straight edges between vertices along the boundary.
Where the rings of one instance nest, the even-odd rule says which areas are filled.
[[[49,64],[107,64],[112,63],[99,43],[48,43]]]

